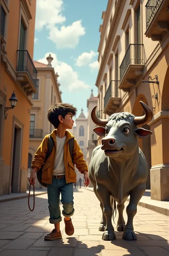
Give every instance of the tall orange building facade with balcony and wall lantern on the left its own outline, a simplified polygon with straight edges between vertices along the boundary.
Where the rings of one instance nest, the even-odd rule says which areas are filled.
[[[0,195],[27,189],[31,95],[37,83],[35,12],[36,1],[1,0]]]

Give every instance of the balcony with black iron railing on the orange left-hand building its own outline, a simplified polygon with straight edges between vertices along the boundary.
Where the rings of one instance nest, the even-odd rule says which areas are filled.
[[[26,50],[17,51],[17,81],[27,95],[36,93],[37,70],[34,63]]]

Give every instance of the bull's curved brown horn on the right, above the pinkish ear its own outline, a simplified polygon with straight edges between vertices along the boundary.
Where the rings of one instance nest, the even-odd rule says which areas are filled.
[[[148,124],[153,118],[152,110],[143,101],[140,101],[140,104],[142,105],[145,114],[142,117],[134,117],[135,125]]]

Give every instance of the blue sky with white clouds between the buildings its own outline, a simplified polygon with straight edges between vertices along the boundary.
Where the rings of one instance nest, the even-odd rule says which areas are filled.
[[[87,99],[98,90],[99,26],[108,0],[37,0],[34,60],[47,64],[58,73],[62,102],[73,104],[77,117],[83,108],[87,116]]]

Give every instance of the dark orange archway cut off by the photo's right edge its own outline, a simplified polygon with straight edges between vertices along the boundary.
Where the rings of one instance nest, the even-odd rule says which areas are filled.
[[[162,111],[169,111],[169,67],[167,68],[163,85]]]

